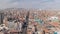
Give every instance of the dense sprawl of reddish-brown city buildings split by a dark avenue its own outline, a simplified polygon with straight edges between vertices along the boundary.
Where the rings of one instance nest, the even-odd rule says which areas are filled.
[[[0,11],[0,34],[60,33],[60,10],[8,8]]]

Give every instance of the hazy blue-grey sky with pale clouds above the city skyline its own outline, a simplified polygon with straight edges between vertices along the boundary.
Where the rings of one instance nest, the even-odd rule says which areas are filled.
[[[60,0],[0,0],[0,8],[60,9]]]

